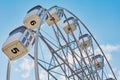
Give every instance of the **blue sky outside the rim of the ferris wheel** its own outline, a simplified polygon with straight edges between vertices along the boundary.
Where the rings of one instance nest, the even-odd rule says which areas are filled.
[[[45,8],[58,5],[72,11],[90,29],[103,50],[109,57],[110,64],[120,80],[120,1],[119,0],[0,0],[0,48],[7,39],[9,32],[14,28],[23,25],[26,12],[35,5]],[[5,80],[8,58],[0,50],[0,79]],[[29,66],[31,62],[28,58],[20,59]],[[32,80],[31,77],[24,79],[23,73],[16,68],[12,72],[12,80]],[[19,71],[17,73],[17,71]],[[30,75],[33,73],[30,72]],[[13,75],[16,75],[13,78]],[[17,78],[19,76],[19,78]],[[23,77],[21,79],[21,77]],[[31,78],[31,79],[29,79]]]

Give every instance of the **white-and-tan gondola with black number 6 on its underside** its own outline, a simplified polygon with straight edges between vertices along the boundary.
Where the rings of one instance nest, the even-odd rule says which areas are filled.
[[[27,15],[24,18],[24,25],[30,29],[36,30],[41,22],[42,17],[44,16],[46,10],[42,8],[40,5],[37,5],[33,8],[31,8]],[[43,22],[45,21],[45,17],[43,18]]]

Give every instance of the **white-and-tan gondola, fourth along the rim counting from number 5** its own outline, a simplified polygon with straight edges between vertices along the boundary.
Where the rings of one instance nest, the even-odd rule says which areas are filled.
[[[78,22],[74,17],[69,17],[68,19],[64,20],[63,23],[63,29],[67,34],[74,32],[76,30],[76,27],[78,26]]]

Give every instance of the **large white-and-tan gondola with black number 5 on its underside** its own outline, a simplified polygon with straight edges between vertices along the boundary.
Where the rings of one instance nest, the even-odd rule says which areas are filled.
[[[10,60],[17,60],[26,55],[35,42],[33,33],[25,26],[13,30],[2,46],[2,51]]]

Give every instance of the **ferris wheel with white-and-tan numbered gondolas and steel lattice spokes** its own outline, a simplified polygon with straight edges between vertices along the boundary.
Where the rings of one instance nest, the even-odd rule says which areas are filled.
[[[37,5],[27,12],[23,23],[9,34],[2,47],[9,58],[7,80],[11,61],[24,55],[34,61],[35,80],[40,80],[39,67],[47,73],[44,80],[117,80],[95,37],[69,10]],[[34,55],[28,54],[32,46]]]

